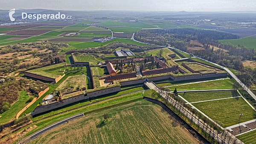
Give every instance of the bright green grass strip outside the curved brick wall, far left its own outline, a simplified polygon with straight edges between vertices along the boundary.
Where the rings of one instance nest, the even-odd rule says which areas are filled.
[[[8,121],[10,121],[12,118],[15,117],[15,115],[17,115],[17,113],[23,109],[24,107],[26,107],[27,104],[29,104],[28,102],[29,100],[29,95],[27,94],[27,92],[25,90],[20,91],[20,97],[19,97],[19,101],[15,102],[15,104],[12,105],[12,107],[7,110],[6,112],[3,112],[0,116],[0,124],[5,124]]]

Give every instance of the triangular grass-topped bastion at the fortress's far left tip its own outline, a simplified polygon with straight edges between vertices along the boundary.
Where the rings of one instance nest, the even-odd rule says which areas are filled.
[[[60,75],[64,75],[63,71],[65,68],[65,63],[58,63],[51,66],[45,66],[38,69],[32,69],[26,72],[41,75],[47,78],[58,78]]]

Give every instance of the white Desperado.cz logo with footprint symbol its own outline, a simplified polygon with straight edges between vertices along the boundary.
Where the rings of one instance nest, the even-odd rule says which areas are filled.
[[[12,14],[15,13],[15,9],[11,9],[9,11],[9,17],[11,21],[15,21],[15,18],[12,17]],[[67,16],[65,14],[60,14],[60,12],[58,12],[58,14],[27,14],[26,12],[22,12],[21,13],[21,18],[22,19],[36,19],[36,20],[40,20],[42,19],[72,19],[72,16]]]

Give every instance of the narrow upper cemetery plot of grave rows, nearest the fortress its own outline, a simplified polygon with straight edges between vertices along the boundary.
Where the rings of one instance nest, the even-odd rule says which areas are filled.
[[[183,89],[184,90],[184,89]],[[208,92],[186,92],[180,93],[188,102],[208,101],[219,98],[231,98],[240,96],[236,90],[208,91]]]

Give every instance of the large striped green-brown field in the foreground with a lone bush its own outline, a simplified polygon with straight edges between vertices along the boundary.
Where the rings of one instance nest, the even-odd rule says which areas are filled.
[[[109,118],[102,123],[104,113]],[[186,129],[173,127],[169,116],[151,102],[138,101],[85,114],[84,118],[40,135],[32,143],[198,143]]]

